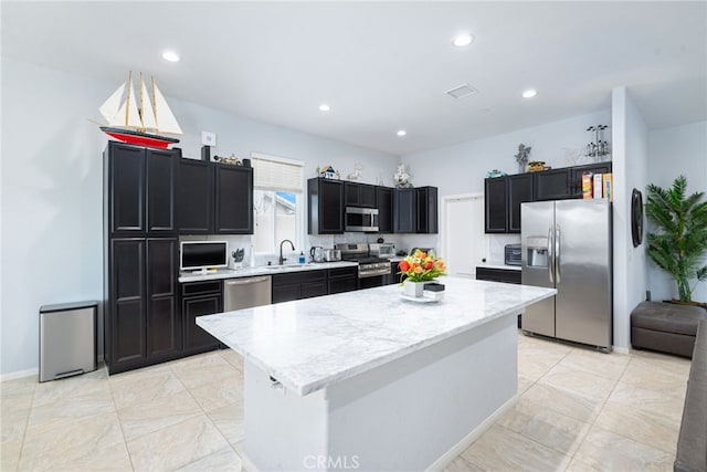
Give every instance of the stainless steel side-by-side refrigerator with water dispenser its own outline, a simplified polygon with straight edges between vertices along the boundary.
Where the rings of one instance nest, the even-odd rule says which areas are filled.
[[[557,289],[524,331],[611,350],[612,216],[604,199],[521,203],[523,283]]]

